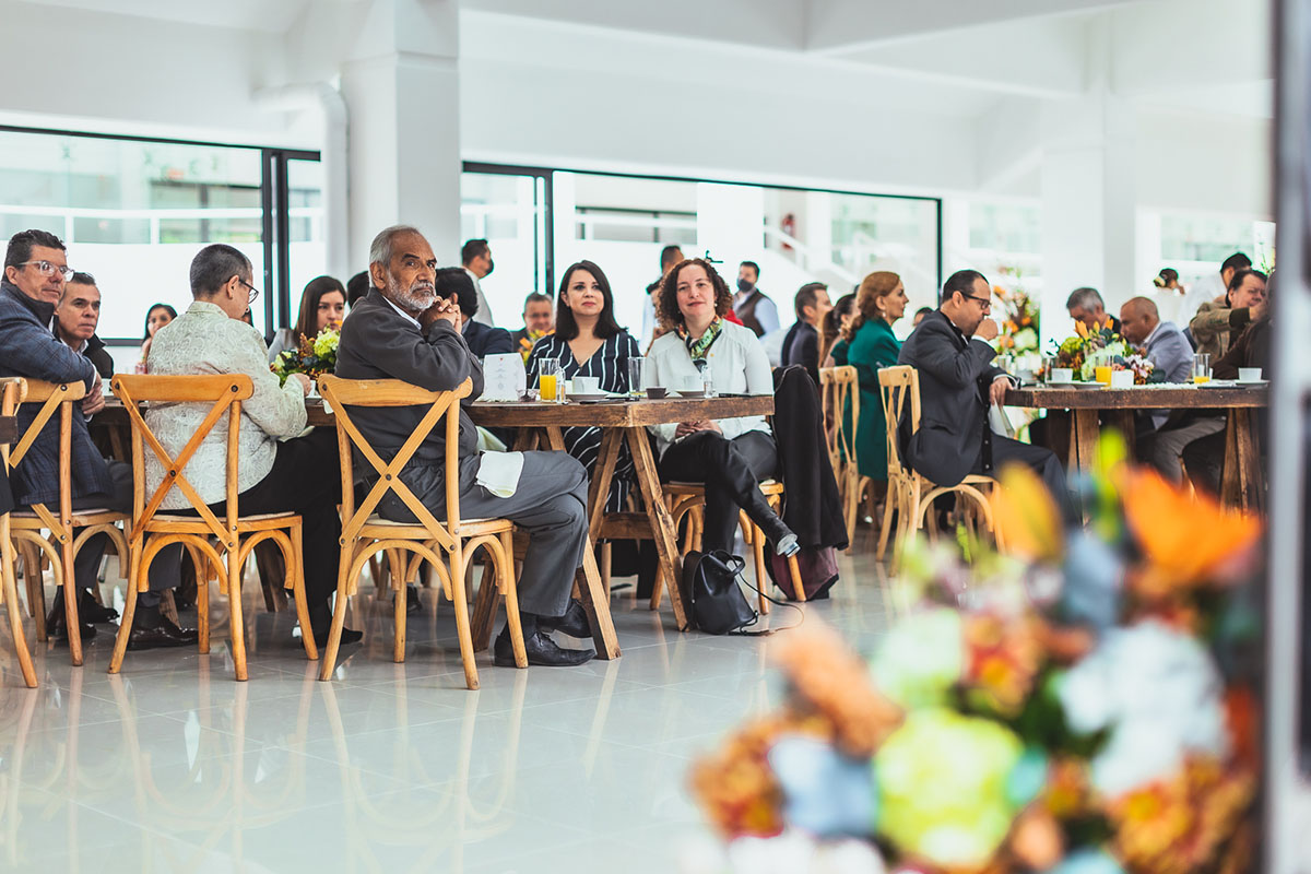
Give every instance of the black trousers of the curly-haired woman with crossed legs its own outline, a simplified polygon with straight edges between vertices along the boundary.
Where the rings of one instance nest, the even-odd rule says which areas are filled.
[[[779,448],[764,431],[747,431],[732,440],[717,431],[700,431],[665,451],[659,476],[665,482],[705,484],[701,549],[733,552],[739,508],[772,542],[788,533],[760,494],[760,480],[773,477],[777,468]]]

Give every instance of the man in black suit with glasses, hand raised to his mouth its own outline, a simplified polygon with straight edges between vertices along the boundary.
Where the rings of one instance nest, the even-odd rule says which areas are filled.
[[[936,485],[954,486],[969,473],[988,473],[1011,461],[1042,476],[1067,520],[1076,520],[1065,470],[1050,449],[992,434],[990,404],[1002,404],[1011,377],[992,366],[987,345],[998,334],[988,318],[992,288],[977,270],[961,270],[943,286],[941,305],[902,346],[899,364],[919,371],[919,431],[901,423],[906,463]]]

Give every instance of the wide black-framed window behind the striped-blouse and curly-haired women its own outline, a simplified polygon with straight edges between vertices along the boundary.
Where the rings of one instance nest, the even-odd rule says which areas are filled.
[[[593,261],[615,291],[615,314],[636,335],[659,253],[760,265],[760,288],[784,326],[796,290],[826,282],[832,297],[872,270],[901,273],[915,305],[941,282],[940,202],[697,180],[465,165],[464,236],[490,241],[496,274],[482,280],[497,322],[518,326],[523,295],[553,294],[558,271]],[[909,325],[909,322],[907,322]]]

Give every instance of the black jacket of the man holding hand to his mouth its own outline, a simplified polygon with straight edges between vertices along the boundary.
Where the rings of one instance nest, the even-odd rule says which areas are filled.
[[[919,371],[919,431],[899,423],[902,455],[912,469],[940,486],[954,486],[983,448],[987,389],[1006,371],[992,366],[996,350],[966,339],[941,309],[919,324],[902,345],[898,364]]]

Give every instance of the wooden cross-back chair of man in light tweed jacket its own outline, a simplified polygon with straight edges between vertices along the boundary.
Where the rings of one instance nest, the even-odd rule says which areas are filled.
[[[160,550],[172,544],[182,544],[195,565],[195,609],[199,633],[199,651],[210,651],[210,591],[208,569],[219,578],[219,586],[228,596],[228,625],[232,638],[232,664],[237,680],[246,679],[245,622],[241,611],[241,569],[250,552],[264,541],[275,542],[282,549],[287,566],[286,587],[292,590],[296,616],[300,620],[300,641],[309,659],[319,658],[315,636],[309,626],[305,604],[304,561],[302,553],[302,523],[294,512],[240,515],[237,506],[237,466],[241,434],[241,401],[253,392],[250,377],[244,373],[205,376],[126,376],[113,380],[114,394],[123,402],[132,426],[132,529],[128,539],[131,575],[123,620],[114,641],[114,655],[109,672],[117,674],[127,651],[127,638],[136,613],[138,592],[149,591],[149,566]],[[172,456],[147,425],[140,404],[208,404],[210,409],[186,446]],[[205,439],[227,417],[227,484],[224,516],[220,519],[195,486],[186,478],[186,465],[195,456]],[[248,425],[248,427],[256,427]],[[147,497],[146,448],[159,459],[164,478]],[[161,504],[169,490],[181,491],[197,516],[163,511]],[[211,541],[216,541],[211,542]],[[223,558],[227,558],[224,567]]]

